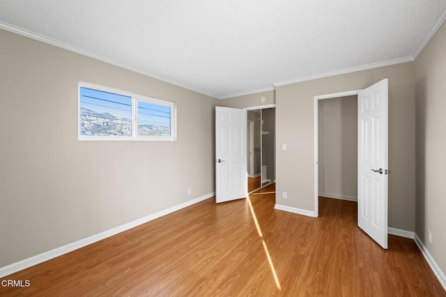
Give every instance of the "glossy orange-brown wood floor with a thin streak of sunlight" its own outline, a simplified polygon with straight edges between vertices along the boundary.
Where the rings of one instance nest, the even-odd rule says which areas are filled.
[[[309,218],[272,192],[207,199],[9,275],[31,286],[0,296],[446,296],[413,240],[382,250],[356,227],[354,202],[321,197]]]

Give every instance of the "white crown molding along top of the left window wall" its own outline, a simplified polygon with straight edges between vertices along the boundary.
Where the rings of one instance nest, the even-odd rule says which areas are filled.
[[[194,91],[196,93],[201,93],[203,95],[210,96],[212,98],[218,98],[217,96],[212,95],[210,93],[207,93],[206,91],[190,88],[189,86],[185,86],[184,84],[180,84],[179,82],[175,82],[174,80],[167,79],[165,77],[160,77],[158,75],[154,75],[153,73],[148,73],[146,70],[142,70],[140,68],[133,67],[133,66],[130,66],[128,64],[119,62],[119,61],[114,61],[114,60],[109,59],[109,58],[107,58],[105,56],[101,56],[100,54],[95,54],[94,52],[90,52],[88,50],[83,50],[83,49],[81,49],[79,47],[75,47],[74,45],[70,45],[68,43],[63,43],[63,42],[61,42],[59,40],[55,40],[54,38],[49,38],[49,37],[43,36],[43,35],[41,35],[39,33],[35,33],[33,31],[29,31],[27,29],[23,29],[23,28],[20,28],[18,26],[14,26],[14,25],[8,24],[6,22],[1,22],[0,21],[0,29],[6,30],[6,31],[10,31],[12,33],[16,33],[18,35],[21,35],[21,36],[24,36],[24,37],[27,37],[27,38],[31,38],[33,40],[38,40],[38,41],[40,41],[42,43],[47,43],[48,45],[53,45],[53,46],[59,47],[59,48],[61,48],[63,50],[68,50],[70,52],[75,52],[76,54],[81,54],[82,56],[88,56],[89,58],[92,58],[92,59],[95,59],[95,60],[98,60],[98,61],[102,61],[102,62],[105,62],[105,63],[108,63],[108,64],[112,64],[114,66],[118,66],[118,67],[124,68],[126,70],[133,71],[134,73],[139,73],[141,75],[146,75],[147,77],[151,77],[153,79],[160,80],[161,82],[167,82],[168,84],[173,84],[174,86],[179,86],[180,88],[187,89],[189,91]]]

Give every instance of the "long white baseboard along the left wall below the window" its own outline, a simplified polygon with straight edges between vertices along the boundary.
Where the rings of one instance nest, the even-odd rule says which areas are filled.
[[[147,215],[144,218],[140,218],[138,220],[128,222],[127,224],[123,224],[121,226],[115,227],[113,229],[109,229],[107,231],[103,231],[99,234],[89,236],[89,237],[81,239],[79,241],[75,241],[74,243],[68,243],[68,245],[63,245],[60,248],[55,248],[54,250],[49,250],[47,252],[43,252],[42,254],[38,254],[38,255],[30,257],[28,259],[24,259],[22,261],[18,261],[16,263],[10,264],[8,266],[1,267],[0,268],[0,278],[5,277],[6,275],[16,273],[17,271],[22,271],[23,269],[40,264],[40,263],[48,261],[50,259],[54,259],[56,257],[63,255],[63,254],[67,254],[68,252],[72,252],[73,250],[83,248],[84,246],[90,245],[91,243],[102,241],[102,239],[105,239],[110,236],[114,236],[114,235],[121,233],[123,231],[127,231],[128,229],[137,227],[140,224],[150,222],[151,220],[160,218],[163,215],[168,215],[169,213],[173,213],[174,211],[179,211],[181,208],[191,206],[192,204],[197,204],[200,201],[206,200],[213,196],[215,196],[215,192],[212,192],[208,195],[198,197],[196,199],[192,199],[190,201],[186,201],[186,202],[184,202],[182,204],[178,204],[176,206],[172,206],[170,208],[164,209],[164,211],[159,211],[157,213]]]

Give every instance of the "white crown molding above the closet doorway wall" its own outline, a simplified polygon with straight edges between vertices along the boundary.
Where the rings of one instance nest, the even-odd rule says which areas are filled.
[[[367,65],[364,65],[364,66],[357,66],[357,67],[352,67],[352,68],[346,68],[346,69],[342,69],[342,70],[331,71],[331,72],[328,72],[328,73],[321,73],[321,74],[318,74],[318,75],[309,75],[309,76],[306,76],[306,77],[299,77],[299,78],[296,78],[296,79],[286,80],[284,82],[275,82],[272,85],[277,88],[277,86],[286,86],[287,84],[295,84],[296,82],[307,82],[307,81],[313,80],[313,79],[319,79],[319,78],[324,78],[324,77],[332,77],[332,76],[335,76],[335,75],[343,75],[343,74],[346,74],[346,73],[355,73],[357,71],[369,70],[369,69],[380,68],[380,67],[384,67],[384,66],[391,66],[391,65],[407,63],[407,62],[413,62],[413,61],[415,61],[415,59],[413,59],[412,56],[406,56],[405,58],[400,58],[400,59],[393,59],[393,60],[379,62],[379,63],[371,63],[371,64],[367,64]]]

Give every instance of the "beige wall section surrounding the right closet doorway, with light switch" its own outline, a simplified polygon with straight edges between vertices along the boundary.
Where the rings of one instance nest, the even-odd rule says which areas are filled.
[[[415,230],[413,63],[300,82],[276,89],[276,203],[314,211],[314,96],[364,89],[389,79],[389,226]],[[287,151],[282,151],[287,144]],[[282,199],[282,192],[288,199]]]

